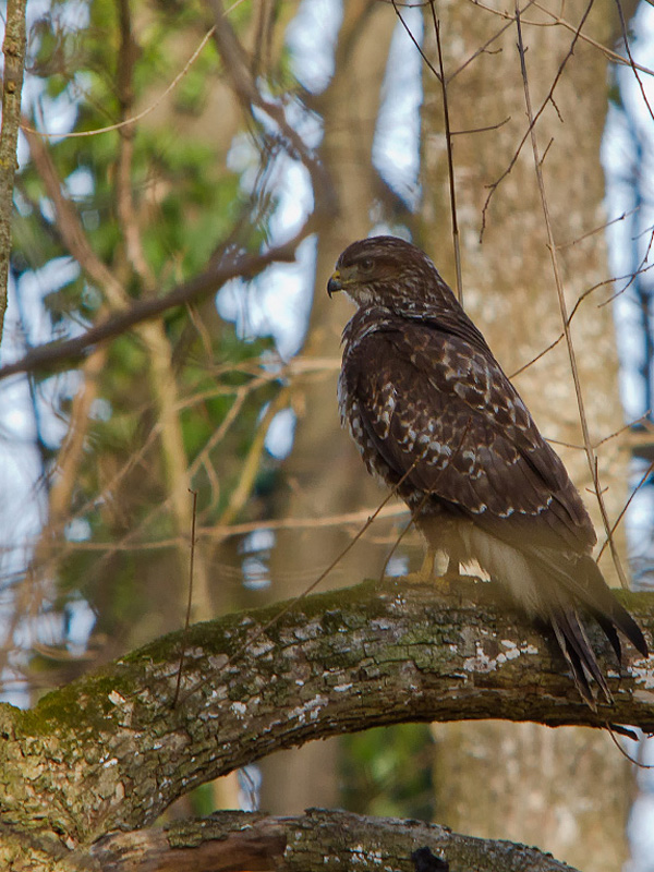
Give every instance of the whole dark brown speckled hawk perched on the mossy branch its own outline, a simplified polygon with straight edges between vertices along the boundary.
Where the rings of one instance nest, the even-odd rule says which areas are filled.
[[[475,562],[556,635],[582,699],[610,691],[580,611],[620,659],[618,630],[643,634],[591,556],[591,519],[482,334],[432,261],[396,237],[352,243],[327,291],[358,311],[343,330],[341,422],[368,472],[409,506],[427,544],[424,567]]]

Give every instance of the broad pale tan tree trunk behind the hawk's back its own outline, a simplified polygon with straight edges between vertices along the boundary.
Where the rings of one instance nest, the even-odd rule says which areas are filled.
[[[529,129],[517,28],[507,17],[473,4],[439,3],[438,12],[452,129],[479,131],[509,119],[495,130],[457,135],[453,164],[463,302],[511,374],[562,330],[529,136],[511,166]],[[584,12],[585,4],[574,2],[566,7],[565,14],[577,26]],[[595,4],[584,33],[608,41],[609,17],[605,3]],[[546,152],[542,166],[555,239],[565,245],[603,222],[598,152],[606,94],[597,82],[605,80],[605,61],[583,40],[577,40],[574,53],[569,55],[574,33],[562,26],[528,23],[552,23],[546,14],[529,8],[523,19],[534,114],[554,88],[565,62],[554,90],[556,107],[547,105],[535,126],[541,155]],[[452,78],[461,64],[506,24],[509,26],[504,35]],[[437,55],[429,9],[425,26],[428,56],[434,59]],[[441,106],[440,85],[425,73],[423,242],[453,284]],[[496,190],[488,187],[500,179]],[[584,291],[606,279],[603,233],[557,250],[557,257],[571,312]],[[572,319],[594,443],[621,426],[610,312],[608,307],[597,308],[608,295],[608,290],[600,288],[581,303]],[[517,376],[514,383],[546,437],[583,444],[565,341]],[[558,445],[555,448],[580,491],[592,489],[584,452]],[[602,446],[600,476],[608,488],[605,500],[609,518],[615,520],[626,497],[626,467],[617,439]],[[601,531],[596,500],[586,494],[585,502]],[[615,578],[608,549],[602,569],[607,580]],[[439,726],[434,732],[439,822],[471,834],[535,843],[568,862],[597,871],[608,872],[623,862],[631,777],[628,763],[611,752],[608,736],[579,730],[553,735],[534,725],[506,724]]]

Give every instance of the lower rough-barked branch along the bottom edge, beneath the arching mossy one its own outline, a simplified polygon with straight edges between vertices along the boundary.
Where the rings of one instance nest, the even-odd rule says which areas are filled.
[[[217,812],[165,829],[113,833],[92,847],[86,868],[89,872],[415,872],[411,856],[425,848],[447,862],[451,872],[573,872],[548,853],[512,841],[462,836],[420,821],[322,809],[310,809],[299,818]]]

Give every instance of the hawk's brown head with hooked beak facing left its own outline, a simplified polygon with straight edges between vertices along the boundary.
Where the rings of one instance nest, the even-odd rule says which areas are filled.
[[[398,237],[371,237],[348,245],[327,284],[344,291],[360,308],[384,306],[413,312],[425,304],[456,305],[426,254]]]

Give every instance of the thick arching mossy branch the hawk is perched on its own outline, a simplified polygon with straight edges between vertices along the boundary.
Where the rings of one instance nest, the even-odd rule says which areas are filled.
[[[607,722],[654,730],[654,657],[618,675],[596,713],[556,645],[495,603],[495,585],[365,583],[164,637],[45,697],[0,706],[0,824],[88,843],[152,823],[191,788],[311,739],[408,720]],[[621,594],[649,641],[651,594]],[[277,618],[277,619],[276,619]]]

